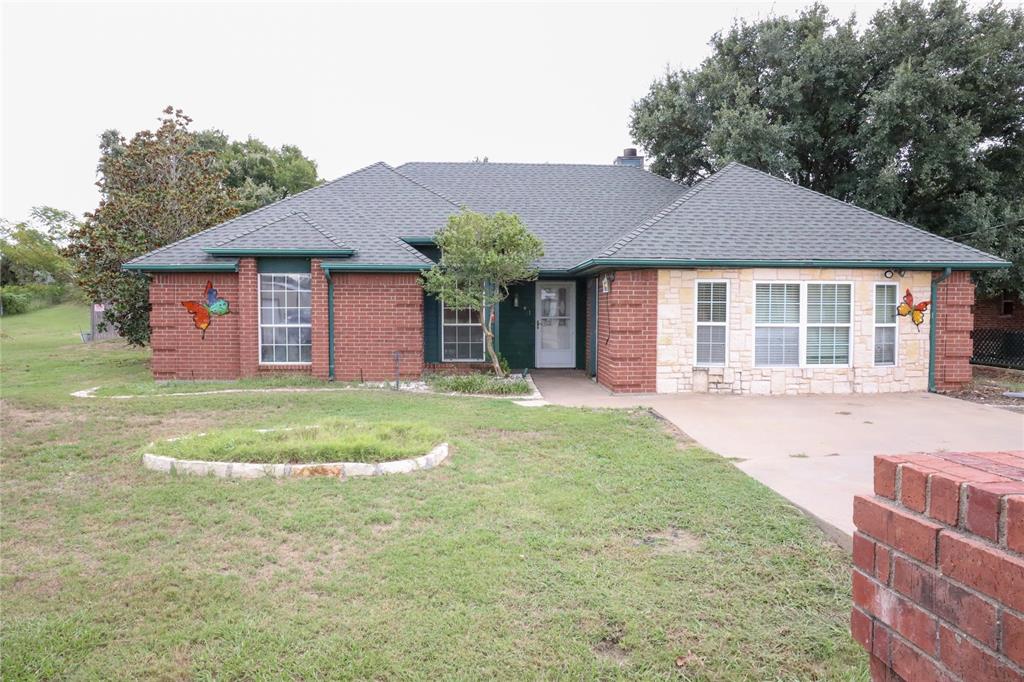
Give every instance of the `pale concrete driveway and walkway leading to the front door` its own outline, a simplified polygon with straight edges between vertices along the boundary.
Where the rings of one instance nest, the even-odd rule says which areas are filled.
[[[1024,450],[1024,414],[934,393],[612,395],[580,372],[532,376],[556,404],[656,410],[841,541],[853,532],[853,496],[872,488],[874,455]]]

